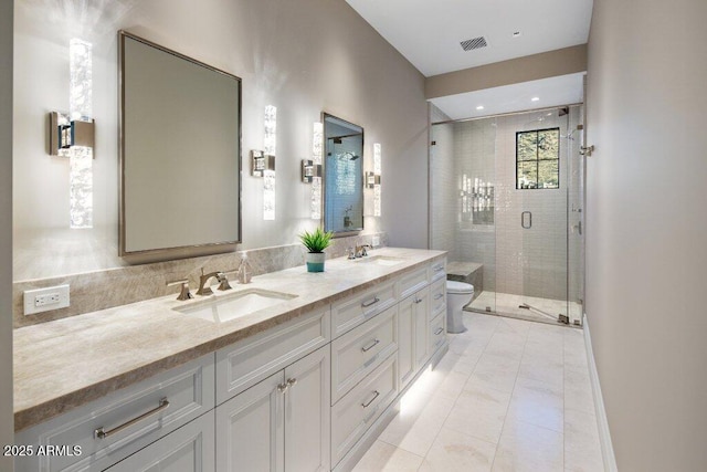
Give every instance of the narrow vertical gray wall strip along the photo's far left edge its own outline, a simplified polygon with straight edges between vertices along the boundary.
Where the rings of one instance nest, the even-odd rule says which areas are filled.
[[[12,8],[0,2],[0,445],[12,444]],[[0,470],[12,459],[0,455]]]

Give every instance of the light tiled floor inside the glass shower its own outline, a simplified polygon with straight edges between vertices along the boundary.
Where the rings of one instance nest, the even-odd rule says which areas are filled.
[[[519,305],[528,304],[535,308],[539,308],[542,312],[552,315],[545,316],[532,310],[520,308]],[[561,313],[568,314],[568,303],[562,300],[539,298],[536,296],[515,295],[510,293],[500,292],[482,292],[465,310],[475,310],[485,312],[486,307],[490,306],[492,311],[499,315],[508,315],[514,318],[528,319],[532,322],[558,324],[557,317]],[[582,306],[579,303],[570,302],[569,314],[570,324],[574,323],[574,319],[580,319],[582,313]]]

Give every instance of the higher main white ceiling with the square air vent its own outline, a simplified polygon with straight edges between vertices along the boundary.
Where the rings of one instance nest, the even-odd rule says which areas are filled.
[[[428,77],[584,44],[592,14],[592,0],[346,1]],[[477,36],[488,45],[460,45]]]

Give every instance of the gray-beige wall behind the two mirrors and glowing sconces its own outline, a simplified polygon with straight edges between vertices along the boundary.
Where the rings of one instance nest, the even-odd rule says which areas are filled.
[[[382,217],[367,209],[366,232],[388,231],[390,244],[426,247],[424,77],[346,2],[213,0],[196,8],[187,0],[146,0],[72,9],[23,1],[14,17],[15,281],[125,265],[117,258],[118,29],[242,77],[244,157],[263,148],[264,107],[277,106],[276,219],[263,220],[263,180],[250,176],[244,158],[239,249],[296,243],[297,233],[316,225],[299,166],[312,155],[313,123],[323,111],[365,128],[365,170],[372,169],[373,143],[381,144]],[[45,150],[45,114],[68,107],[73,36],[93,43],[97,141],[95,225],[81,231],[67,228],[68,164]],[[371,195],[367,190],[367,199]]]

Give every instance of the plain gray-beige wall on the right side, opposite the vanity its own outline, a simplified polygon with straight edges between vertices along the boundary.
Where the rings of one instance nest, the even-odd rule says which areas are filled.
[[[707,470],[705,19],[594,0],[587,315],[621,471]]]

